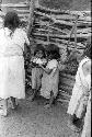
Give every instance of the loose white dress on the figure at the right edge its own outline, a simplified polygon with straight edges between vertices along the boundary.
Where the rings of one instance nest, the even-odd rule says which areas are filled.
[[[82,66],[83,64],[85,64],[87,61],[91,61],[88,57],[85,57],[84,59],[81,60],[81,62],[79,64],[79,68],[76,75],[76,83],[74,87],[72,89],[72,95],[69,102],[69,106],[68,106],[68,114],[76,114],[77,117],[81,117],[81,112],[82,110],[78,110],[78,104],[80,101],[82,101],[82,95],[84,93],[84,91],[90,91],[91,88],[91,75],[89,75],[88,77],[84,77],[83,71],[82,71]]]

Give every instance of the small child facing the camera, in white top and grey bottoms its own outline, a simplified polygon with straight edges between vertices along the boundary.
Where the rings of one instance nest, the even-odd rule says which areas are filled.
[[[38,64],[46,64],[46,55],[45,55],[45,48],[38,44],[34,50],[34,56],[32,57],[31,61],[32,61],[32,90],[33,90],[33,96],[32,96],[32,101],[34,100],[34,98],[36,96],[39,88],[41,88],[41,83],[42,83],[42,76],[43,76],[43,69],[41,67],[38,67]]]

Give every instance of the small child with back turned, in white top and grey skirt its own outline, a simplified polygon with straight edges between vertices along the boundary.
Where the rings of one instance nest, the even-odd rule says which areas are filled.
[[[41,95],[45,99],[49,99],[49,103],[46,107],[50,107],[58,94],[58,82],[59,82],[59,69],[58,59],[60,58],[59,48],[50,44],[47,47],[48,62],[46,67],[41,65],[43,69]]]

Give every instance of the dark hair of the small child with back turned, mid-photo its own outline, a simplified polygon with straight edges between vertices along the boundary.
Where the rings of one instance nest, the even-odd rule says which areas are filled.
[[[59,59],[60,58],[59,47],[54,45],[54,44],[49,44],[47,46],[46,53],[47,53],[47,56],[51,55],[51,59]]]

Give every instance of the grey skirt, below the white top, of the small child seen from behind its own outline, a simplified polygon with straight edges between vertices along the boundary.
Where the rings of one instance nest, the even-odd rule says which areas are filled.
[[[53,91],[54,96],[58,94],[58,83],[59,83],[59,70],[57,69],[55,75],[47,75],[45,71],[42,78],[41,95],[50,99],[50,92]]]

